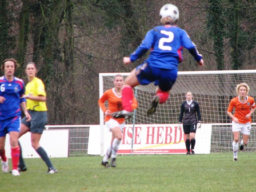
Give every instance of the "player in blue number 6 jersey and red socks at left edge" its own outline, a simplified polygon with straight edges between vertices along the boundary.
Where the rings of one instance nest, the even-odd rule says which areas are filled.
[[[8,158],[5,155],[6,134],[10,135],[11,160],[13,170],[11,174],[19,175],[19,130],[21,128],[21,108],[30,121],[30,114],[26,109],[25,87],[22,79],[14,77],[15,69],[18,67],[15,59],[5,59],[1,69],[4,71],[0,77],[0,157],[2,159],[3,173],[9,173]],[[20,107],[21,106],[21,107]]]

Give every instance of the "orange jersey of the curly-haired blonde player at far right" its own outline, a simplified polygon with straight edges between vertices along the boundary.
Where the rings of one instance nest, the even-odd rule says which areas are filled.
[[[232,112],[235,108],[234,117],[238,119],[239,123],[251,123],[251,117],[246,119],[245,116],[250,113],[251,109],[255,108],[254,99],[250,96],[246,96],[247,100],[244,103],[239,101],[238,97],[231,99],[229,103],[229,108],[227,109],[228,112]],[[233,119],[232,119],[233,120]]]

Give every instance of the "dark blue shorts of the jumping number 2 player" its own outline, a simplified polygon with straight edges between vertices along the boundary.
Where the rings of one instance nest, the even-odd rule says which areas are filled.
[[[147,85],[154,82],[154,85],[158,85],[162,91],[169,91],[176,82],[178,69],[161,69],[144,62],[137,66],[135,74],[139,84]]]

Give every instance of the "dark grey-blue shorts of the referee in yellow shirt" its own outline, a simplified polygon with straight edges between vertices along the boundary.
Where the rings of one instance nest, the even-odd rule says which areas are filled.
[[[27,110],[31,116],[30,121],[26,121],[24,117],[21,121],[23,125],[29,127],[31,133],[43,133],[45,125],[47,124],[47,111],[33,111]]]

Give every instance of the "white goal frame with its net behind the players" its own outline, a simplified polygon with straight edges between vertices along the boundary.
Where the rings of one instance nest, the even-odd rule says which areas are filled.
[[[181,103],[186,100],[185,93],[191,91],[194,101],[199,103],[203,124],[214,124],[211,130],[211,153],[231,152],[230,117],[226,114],[227,107],[232,98],[237,96],[235,87],[239,83],[247,83],[250,87],[249,95],[256,100],[256,70],[229,70],[229,71],[179,71],[176,83],[171,89],[166,103],[158,106],[157,111],[147,117],[146,110],[155,94],[155,86],[139,85],[134,88],[134,94],[138,101],[135,115],[126,121],[127,125],[166,125],[177,124]],[[129,73],[100,73],[99,97],[113,88],[113,77],[122,74],[127,77]],[[107,105],[107,103],[106,103]],[[256,113],[252,115],[253,122]],[[106,131],[103,129],[103,113],[100,109],[101,126],[101,155],[105,153],[110,143],[106,142]],[[217,124],[216,124],[217,123]],[[174,126],[175,127],[175,126]],[[175,129],[176,131],[176,129]],[[197,136],[197,134],[196,134]],[[254,123],[247,151],[255,151]],[[132,142],[133,143],[133,142]],[[131,143],[131,146],[133,146]],[[219,144],[218,144],[219,143]],[[226,144],[225,144],[226,143]],[[107,146],[105,146],[107,145]],[[184,144],[185,146],[185,144]],[[197,144],[196,146],[197,147]],[[250,148],[250,150],[249,150]],[[133,149],[131,149],[132,151]]]

